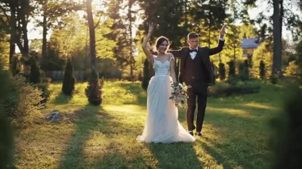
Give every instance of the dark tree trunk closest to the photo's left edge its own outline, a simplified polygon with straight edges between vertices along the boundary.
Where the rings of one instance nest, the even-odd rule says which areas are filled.
[[[16,42],[16,6],[13,2],[10,2],[10,19],[9,19],[9,26],[10,26],[10,41],[9,41],[9,63],[11,63],[11,59],[13,54],[15,53],[15,42]]]

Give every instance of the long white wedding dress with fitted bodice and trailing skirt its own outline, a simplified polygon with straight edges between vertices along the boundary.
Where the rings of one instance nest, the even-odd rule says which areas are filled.
[[[148,86],[147,98],[147,122],[142,135],[136,140],[138,142],[171,143],[171,142],[193,142],[196,140],[187,132],[178,121],[178,109],[171,96],[172,78],[170,75],[171,57],[163,63],[155,60],[153,76]]]

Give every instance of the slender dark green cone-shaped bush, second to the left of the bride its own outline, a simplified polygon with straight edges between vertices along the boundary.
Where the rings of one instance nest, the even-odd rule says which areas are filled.
[[[65,95],[71,96],[75,91],[74,67],[69,58],[65,67],[62,91]]]

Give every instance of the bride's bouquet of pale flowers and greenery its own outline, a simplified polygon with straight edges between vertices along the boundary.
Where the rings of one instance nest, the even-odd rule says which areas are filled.
[[[186,85],[185,83],[173,83],[171,84],[171,97],[175,102],[175,106],[178,108],[186,108],[187,107],[187,90],[190,88],[190,85]]]

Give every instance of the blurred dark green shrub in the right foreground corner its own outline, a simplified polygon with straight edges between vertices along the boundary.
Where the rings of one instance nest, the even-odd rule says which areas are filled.
[[[272,169],[302,168],[302,90],[294,88],[285,96],[285,107],[271,121],[274,132],[271,132],[270,149],[273,152]]]

